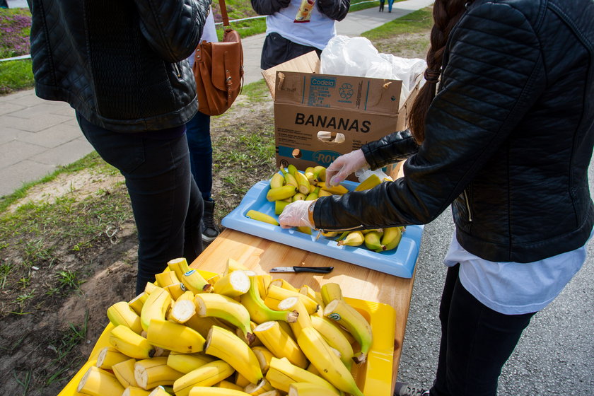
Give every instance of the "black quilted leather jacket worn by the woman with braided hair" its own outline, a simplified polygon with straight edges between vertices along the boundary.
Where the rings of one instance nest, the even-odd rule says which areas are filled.
[[[594,223],[594,2],[475,1],[450,35],[426,140],[404,177],[318,199],[325,230],[429,223],[452,204],[458,241],[485,260],[581,247]],[[363,146],[372,168],[414,151],[408,132]]]

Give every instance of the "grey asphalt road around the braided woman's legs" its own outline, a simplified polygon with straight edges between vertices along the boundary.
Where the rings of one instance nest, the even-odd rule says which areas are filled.
[[[589,170],[590,194],[594,170]],[[453,234],[450,209],[427,224],[417,262],[398,380],[431,386],[441,327],[443,257]],[[537,313],[503,367],[499,396],[594,395],[594,240],[582,269],[564,291]]]

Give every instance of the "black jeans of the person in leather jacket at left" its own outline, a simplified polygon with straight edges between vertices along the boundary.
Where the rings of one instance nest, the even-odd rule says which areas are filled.
[[[150,139],[112,132],[76,114],[83,134],[126,179],[138,230],[136,294],[167,262],[202,252],[203,202],[192,174],[185,136]]]

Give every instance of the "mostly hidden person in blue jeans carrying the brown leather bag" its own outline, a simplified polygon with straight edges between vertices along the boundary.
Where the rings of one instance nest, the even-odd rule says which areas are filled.
[[[204,31],[200,41],[218,42],[212,9],[206,17]],[[188,58],[190,66],[194,66],[194,55]],[[197,112],[192,120],[186,123],[187,145],[190,149],[190,166],[192,176],[202,193],[204,214],[202,215],[202,242],[211,243],[219,236],[219,227],[214,220],[214,201],[212,190],[212,141],[210,136],[210,116]]]

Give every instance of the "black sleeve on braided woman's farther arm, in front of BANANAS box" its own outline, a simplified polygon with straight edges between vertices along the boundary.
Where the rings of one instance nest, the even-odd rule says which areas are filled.
[[[372,170],[403,161],[419,151],[409,129],[394,132],[382,139],[364,144],[361,149]]]

